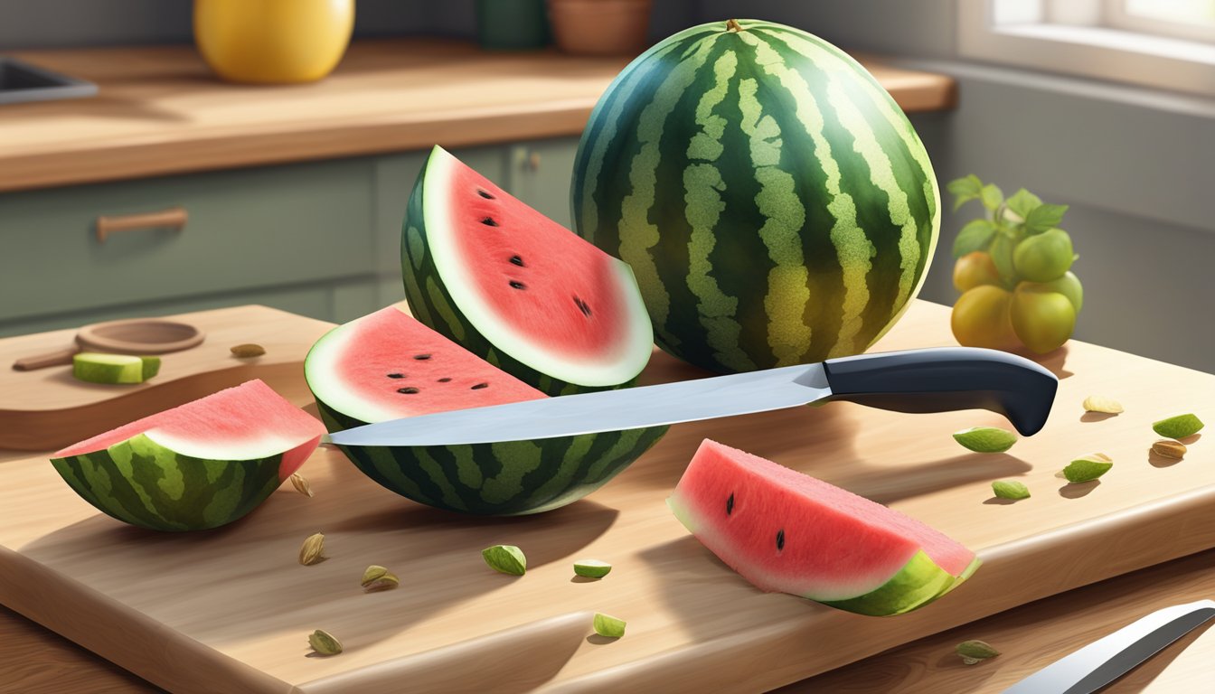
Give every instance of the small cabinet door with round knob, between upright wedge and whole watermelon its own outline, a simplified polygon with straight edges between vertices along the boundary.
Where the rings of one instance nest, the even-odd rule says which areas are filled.
[[[570,227],[570,176],[577,137],[521,142],[508,148],[505,188],[561,226]]]

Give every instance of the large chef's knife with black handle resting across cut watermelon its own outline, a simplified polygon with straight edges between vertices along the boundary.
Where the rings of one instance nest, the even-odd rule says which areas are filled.
[[[1055,374],[1016,355],[936,348],[422,414],[338,431],[328,436],[328,442],[440,446],[526,441],[678,424],[830,400],[900,412],[991,410],[1028,436],[1046,423],[1057,387]]]

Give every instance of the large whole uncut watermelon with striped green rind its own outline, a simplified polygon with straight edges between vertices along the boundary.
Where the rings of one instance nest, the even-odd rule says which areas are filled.
[[[864,351],[920,290],[940,226],[928,154],[877,80],[751,19],[626,67],[571,197],[575,230],[632,266],[659,345],[718,372]]]

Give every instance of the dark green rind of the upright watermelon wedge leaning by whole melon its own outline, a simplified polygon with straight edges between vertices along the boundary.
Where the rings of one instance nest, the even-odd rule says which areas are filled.
[[[429,165],[430,159],[428,158],[418,173],[413,191],[409,193],[409,202],[401,226],[401,275],[409,312],[447,339],[547,395],[615,390],[635,384],[635,376],[621,383],[600,387],[554,378],[514,359],[476,329],[473,322],[460,312],[457,301],[447,289],[428,243],[423,191]]]

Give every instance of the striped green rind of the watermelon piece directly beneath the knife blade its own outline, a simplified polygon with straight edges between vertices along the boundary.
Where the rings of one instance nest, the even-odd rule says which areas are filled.
[[[361,427],[317,399],[332,431]],[[572,503],[608,484],[666,427],[539,441],[458,446],[339,446],[360,470],[406,498],[474,515],[524,515]]]

